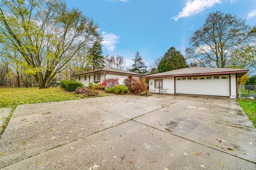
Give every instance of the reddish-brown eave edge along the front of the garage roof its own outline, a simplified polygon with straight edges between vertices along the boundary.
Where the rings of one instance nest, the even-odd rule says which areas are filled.
[[[194,73],[194,74],[172,74],[172,75],[147,75],[146,78],[162,78],[162,77],[185,77],[185,76],[198,76],[198,75],[220,75],[232,73],[247,73],[249,70],[238,71],[225,71],[225,72],[211,72],[211,73]]]

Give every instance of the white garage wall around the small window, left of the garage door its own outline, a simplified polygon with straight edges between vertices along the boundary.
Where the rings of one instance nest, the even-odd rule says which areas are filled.
[[[163,89],[168,89],[168,94],[174,94],[174,77],[169,78],[150,78],[149,79],[149,92],[158,93],[159,89],[155,88],[155,79],[163,79]],[[152,84],[151,84],[152,82]]]

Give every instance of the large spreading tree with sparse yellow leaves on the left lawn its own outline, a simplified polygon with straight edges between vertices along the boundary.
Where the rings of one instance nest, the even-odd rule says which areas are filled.
[[[47,88],[79,49],[99,37],[91,19],[58,0],[0,0],[0,35],[2,46],[20,53],[39,88]]]

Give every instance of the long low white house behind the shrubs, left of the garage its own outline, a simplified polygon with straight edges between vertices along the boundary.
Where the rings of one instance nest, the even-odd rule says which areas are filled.
[[[82,74],[76,74],[76,75],[73,75],[72,77],[75,77],[75,79],[83,83],[84,86],[89,86],[90,82],[92,82],[93,84],[99,84],[108,78],[118,78],[119,84],[124,84],[123,81],[128,77],[128,75],[132,75],[133,78],[137,78],[137,79],[144,76],[142,74],[133,73],[125,70],[105,68],[105,69],[85,72]]]

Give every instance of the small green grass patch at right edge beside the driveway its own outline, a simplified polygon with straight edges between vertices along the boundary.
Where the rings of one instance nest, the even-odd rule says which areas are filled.
[[[256,100],[238,99],[237,101],[256,128]]]

